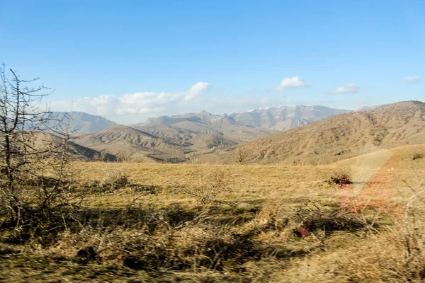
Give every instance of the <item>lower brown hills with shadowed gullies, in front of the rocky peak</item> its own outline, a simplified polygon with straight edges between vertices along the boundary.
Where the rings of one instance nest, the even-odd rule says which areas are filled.
[[[76,144],[135,162],[185,162],[191,156],[236,146],[221,134],[198,134],[166,125],[148,128],[114,125],[73,138]],[[150,130],[150,132],[149,132]]]

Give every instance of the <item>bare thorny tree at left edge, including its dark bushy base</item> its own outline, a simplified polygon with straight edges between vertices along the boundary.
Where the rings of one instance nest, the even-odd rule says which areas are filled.
[[[34,87],[37,79],[23,80],[9,71],[0,67],[1,238],[45,245],[55,241],[64,230],[63,219],[81,203],[69,115],[53,115],[42,106],[49,91]]]

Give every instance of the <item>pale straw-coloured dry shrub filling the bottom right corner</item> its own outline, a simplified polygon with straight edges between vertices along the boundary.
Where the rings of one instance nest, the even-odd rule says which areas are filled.
[[[407,185],[404,212],[390,215],[386,229],[352,245],[324,255],[317,262],[308,260],[310,279],[327,282],[424,282],[425,279],[425,202],[424,180],[418,186]],[[331,270],[331,272],[329,272]],[[349,280],[348,280],[349,279]],[[306,278],[308,281],[308,278]]]

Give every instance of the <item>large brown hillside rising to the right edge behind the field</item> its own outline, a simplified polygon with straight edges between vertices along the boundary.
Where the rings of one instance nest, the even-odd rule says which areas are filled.
[[[425,103],[401,102],[314,122],[240,146],[246,163],[317,164],[425,142]],[[237,151],[222,157],[234,162]]]

